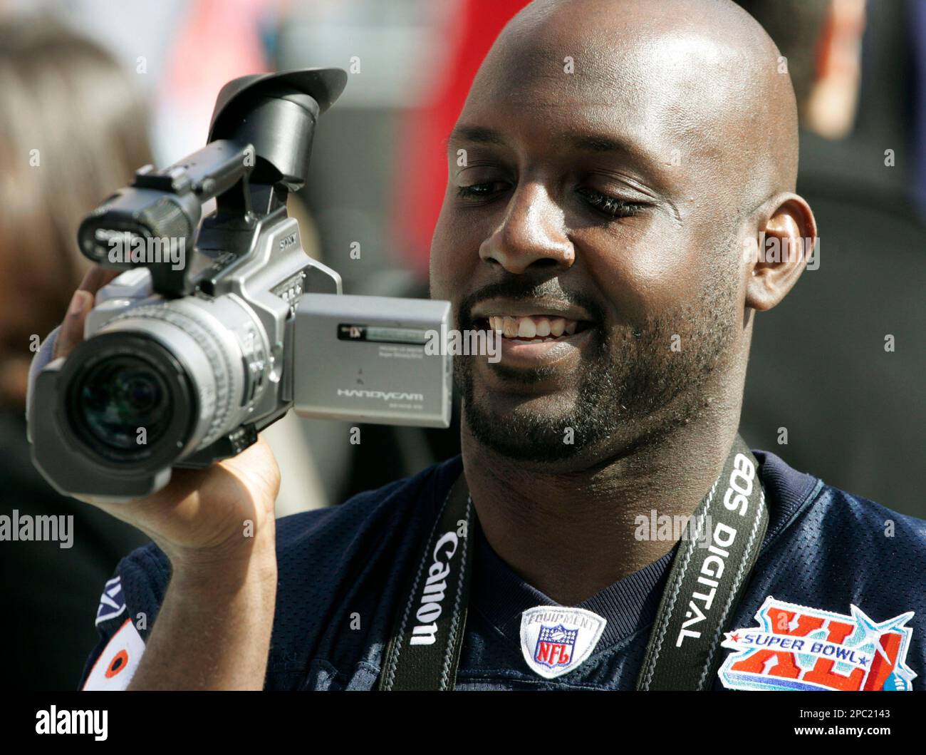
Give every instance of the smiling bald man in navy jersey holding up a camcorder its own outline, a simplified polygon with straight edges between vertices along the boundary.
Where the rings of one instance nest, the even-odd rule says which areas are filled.
[[[926,524],[737,434],[754,322],[817,236],[766,33],[727,0],[538,0],[447,159],[432,296],[501,333],[455,362],[462,456],[276,526],[262,444],[111,508],[156,546],[81,684],[921,686]]]

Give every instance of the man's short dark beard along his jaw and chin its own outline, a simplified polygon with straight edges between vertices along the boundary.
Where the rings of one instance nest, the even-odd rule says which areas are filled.
[[[580,456],[598,460],[689,422],[704,406],[702,386],[727,359],[738,322],[737,281],[729,268],[726,277],[722,272],[718,266],[701,301],[668,315],[610,333],[599,318],[582,358],[575,397],[560,411],[521,405],[501,416],[476,394],[473,359],[479,358],[455,359],[469,432],[508,459],[555,462]],[[579,303],[589,308],[586,300]],[[672,350],[676,342],[677,351]],[[490,369],[513,384],[542,381],[554,370],[513,370],[501,364]]]

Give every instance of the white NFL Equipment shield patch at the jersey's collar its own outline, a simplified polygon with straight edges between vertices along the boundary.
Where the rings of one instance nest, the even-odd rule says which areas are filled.
[[[521,614],[521,652],[544,679],[569,673],[585,661],[605,631],[606,619],[584,609],[538,606]]]

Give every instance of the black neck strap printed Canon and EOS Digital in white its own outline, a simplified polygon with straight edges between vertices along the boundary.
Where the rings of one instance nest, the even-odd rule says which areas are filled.
[[[672,560],[637,689],[709,686],[720,635],[743,596],[768,523],[758,462],[737,435]],[[380,689],[454,688],[477,528],[460,474],[408,580],[383,659]]]

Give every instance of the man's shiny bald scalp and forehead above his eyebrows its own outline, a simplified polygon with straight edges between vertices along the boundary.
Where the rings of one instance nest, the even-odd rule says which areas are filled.
[[[732,33],[735,16],[720,24],[667,14],[667,6],[680,4],[579,0],[516,18],[483,61],[458,126],[492,129],[511,143],[533,133],[540,145],[568,132],[601,134],[650,165],[677,161],[681,150],[689,168],[718,179],[789,150],[793,94],[790,82],[772,81],[781,78],[778,52],[765,32],[748,17],[755,28]],[[596,12],[570,17],[564,7]],[[774,114],[785,113],[779,131],[767,119],[775,101],[784,103]]]

